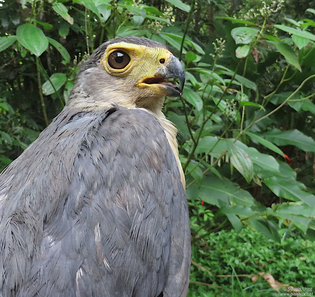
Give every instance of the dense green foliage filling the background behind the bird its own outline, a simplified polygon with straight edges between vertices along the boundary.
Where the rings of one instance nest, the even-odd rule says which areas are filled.
[[[186,69],[164,112],[187,179],[189,295],[312,286],[314,2],[0,0],[0,21],[1,170],[60,112],[104,40],[162,42]]]

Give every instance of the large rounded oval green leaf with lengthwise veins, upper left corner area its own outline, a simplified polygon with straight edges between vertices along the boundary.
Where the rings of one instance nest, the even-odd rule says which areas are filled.
[[[16,37],[20,44],[37,57],[43,54],[48,47],[45,34],[33,24],[19,26],[16,29]]]

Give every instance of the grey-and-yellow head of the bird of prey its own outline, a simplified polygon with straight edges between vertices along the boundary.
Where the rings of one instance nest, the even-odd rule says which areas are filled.
[[[68,105],[96,108],[107,102],[161,108],[164,96],[183,93],[184,82],[183,66],[165,45],[132,36],[115,38],[100,45],[84,63]]]

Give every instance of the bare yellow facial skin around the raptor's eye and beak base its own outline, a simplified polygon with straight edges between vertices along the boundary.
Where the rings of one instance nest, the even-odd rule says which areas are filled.
[[[129,64],[123,69],[114,69],[108,64],[109,55],[117,50],[124,51],[130,57]],[[145,82],[146,79],[163,80],[164,77],[160,73],[161,70],[163,70],[163,67],[166,66],[168,66],[167,71],[169,71],[169,68],[172,66],[168,64],[170,59],[176,58],[168,49],[119,42],[110,44],[106,48],[106,51],[100,60],[100,64],[105,68],[107,73],[116,77],[128,79],[130,84],[133,84],[139,89],[146,89],[153,96],[179,96],[179,92],[175,92],[174,89],[171,90],[171,87],[166,84]],[[176,65],[176,67],[178,67],[178,65]],[[167,71],[164,70],[162,73],[167,73]],[[175,77],[169,75],[167,78]],[[165,80],[167,78],[165,77]],[[176,95],[174,95],[175,93]],[[177,95],[177,93],[179,93],[179,95]]]

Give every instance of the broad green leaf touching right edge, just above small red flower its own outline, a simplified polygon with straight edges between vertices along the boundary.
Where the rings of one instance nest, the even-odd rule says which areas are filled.
[[[279,146],[289,144],[295,145],[305,152],[315,152],[315,141],[296,129],[288,131],[272,129],[271,131],[261,134],[261,136]]]

